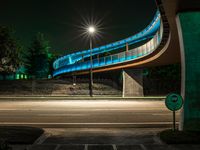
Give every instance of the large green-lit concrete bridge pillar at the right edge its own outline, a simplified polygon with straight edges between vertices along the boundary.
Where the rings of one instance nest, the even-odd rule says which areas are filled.
[[[181,130],[200,130],[200,12],[177,16],[181,46],[182,96]]]

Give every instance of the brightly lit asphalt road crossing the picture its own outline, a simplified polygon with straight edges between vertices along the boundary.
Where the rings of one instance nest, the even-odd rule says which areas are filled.
[[[172,112],[159,100],[0,101],[0,125],[155,127],[171,121]]]

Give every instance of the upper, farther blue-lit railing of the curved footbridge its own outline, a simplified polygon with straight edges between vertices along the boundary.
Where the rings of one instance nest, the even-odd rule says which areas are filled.
[[[156,33],[156,31],[160,28],[160,12],[156,11],[156,14],[151,21],[151,23],[141,32],[128,37],[126,39],[116,41],[114,43],[110,43],[107,45],[103,45],[101,47],[93,48],[92,55],[99,55],[105,52],[110,52],[114,50],[119,50],[120,48],[125,47],[128,45],[133,45],[135,43],[139,43],[145,40],[149,40],[153,37],[153,35]],[[54,63],[53,67],[54,69],[59,69],[63,66],[74,64],[77,61],[80,61],[84,58],[90,57],[90,50],[82,50],[75,53],[71,53],[65,56],[62,56],[58,58]]]

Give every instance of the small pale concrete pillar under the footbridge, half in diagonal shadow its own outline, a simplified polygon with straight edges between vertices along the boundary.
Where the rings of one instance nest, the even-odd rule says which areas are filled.
[[[123,70],[123,97],[144,96],[142,69]]]

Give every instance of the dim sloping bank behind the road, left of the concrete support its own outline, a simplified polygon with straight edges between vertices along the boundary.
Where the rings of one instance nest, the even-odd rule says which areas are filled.
[[[88,79],[77,79],[73,85],[71,79],[62,80],[14,80],[0,81],[0,95],[23,96],[89,96]],[[122,92],[112,80],[94,80],[94,95],[121,96]]]

